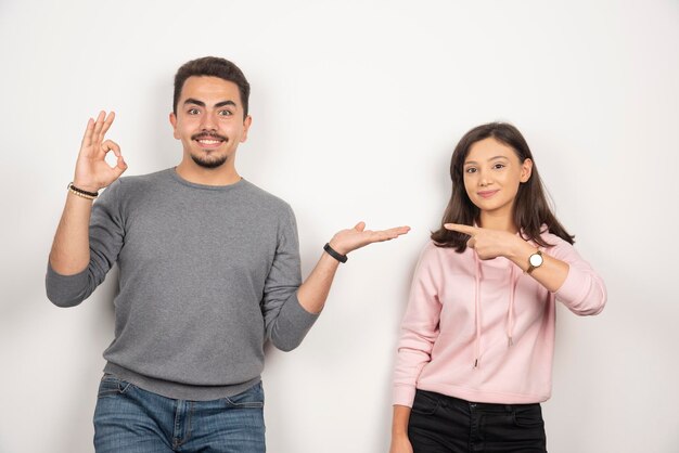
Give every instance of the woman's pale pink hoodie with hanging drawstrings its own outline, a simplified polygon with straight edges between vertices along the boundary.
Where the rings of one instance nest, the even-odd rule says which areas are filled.
[[[426,245],[401,324],[394,404],[412,406],[415,388],[488,403],[549,399],[556,308],[598,314],[606,302],[601,277],[562,238],[543,233],[543,254],[569,264],[550,293],[507,258]]]

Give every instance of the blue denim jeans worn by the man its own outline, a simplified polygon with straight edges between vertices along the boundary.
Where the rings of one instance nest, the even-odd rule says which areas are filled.
[[[165,398],[111,375],[94,411],[98,453],[264,453],[261,383],[212,401]]]

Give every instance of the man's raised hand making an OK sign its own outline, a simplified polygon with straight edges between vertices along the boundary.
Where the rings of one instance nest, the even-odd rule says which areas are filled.
[[[106,187],[118,179],[125,170],[127,164],[120,154],[120,146],[112,140],[104,140],[104,135],[111,128],[115,113],[107,116],[105,112],[100,112],[97,120],[90,118],[82,137],[80,153],[76,163],[76,173],[73,185],[89,192],[98,192]],[[106,153],[113,151],[117,157],[117,163],[111,167],[106,163]]]

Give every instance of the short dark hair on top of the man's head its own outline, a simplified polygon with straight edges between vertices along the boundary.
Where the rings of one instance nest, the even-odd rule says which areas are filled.
[[[172,102],[172,112],[177,115],[177,104],[181,95],[181,89],[189,77],[219,77],[220,79],[231,81],[239,87],[241,93],[241,103],[243,103],[243,118],[247,116],[247,104],[249,100],[249,83],[243,75],[243,72],[233,63],[218,56],[204,56],[202,59],[192,60],[184,63],[175,76],[175,99]]]

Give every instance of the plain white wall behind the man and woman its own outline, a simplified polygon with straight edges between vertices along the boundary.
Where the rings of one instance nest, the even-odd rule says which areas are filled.
[[[102,108],[127,174],[176,165],[172,77],[210,54],[252,83],[238,168],[295,209],[305,275],[340,229],[412,226],[351,254],[297,350],[268,350],[270,452],[387,451],[398,324],[450,154],[498,119],[608,287],[600,316],[560,310],[549,451],[679,451],[676,0],[1,0],[1,452],[92,451],[115,275],[75,309],[47,300],[65,186]]]

